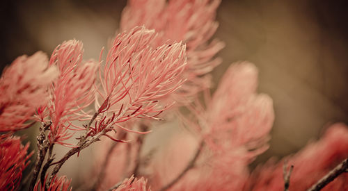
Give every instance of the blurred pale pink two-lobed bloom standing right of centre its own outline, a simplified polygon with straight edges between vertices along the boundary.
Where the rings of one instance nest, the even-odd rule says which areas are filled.
[[[255,92],[257,78],[258,69],[246,62],[231,65],[224,74],[208,104],[208,128],[203,130],[212,149],[223,152],[243,148],[252,159],[268,148],[265,143],[274,110],[270,97]]]

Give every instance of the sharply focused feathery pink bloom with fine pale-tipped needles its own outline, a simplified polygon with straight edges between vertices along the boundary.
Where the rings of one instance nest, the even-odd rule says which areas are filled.
[[[120,123],[135,117],[156,119],[168,108],[160,105],[159,99],[168,97],[184,82],[180,74],[186,66],[185,46],[174,43],[153,49],[150,44],[156,35],[153,30],[135,27],[113,41],[100,69],[102,90],[97,90],[95,107],[103,114],[95,129],[116,125],[134,132]],[[100,128],[102,121],[105,123]]]

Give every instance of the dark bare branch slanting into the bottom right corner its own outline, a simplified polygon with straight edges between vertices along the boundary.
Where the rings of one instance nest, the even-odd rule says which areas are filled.
[[[322,179],[317,181],[315,185],[313,185],[308,191],[317,191],[322,190],[327,184],[331,183],[335,178],[340,176],[340,174],[347,172],[348,169],[348,158],[342,161],[339,165],[337,165],[334,169],[331,170],[328,174],[326,174]]]

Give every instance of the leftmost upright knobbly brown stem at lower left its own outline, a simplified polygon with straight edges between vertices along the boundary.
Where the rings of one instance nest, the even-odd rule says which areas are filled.
[[[47,128],[49,128],[49,126],[51,126],[51,124],[52,124],[51,122],[49,122],[48,124],[42,123],[40,126],[40,133],[37,137],[38,153],[36,156],[35,167],[33,170],[33,177],[31,178],[29,190],[33,190],[35,183],[38,179],[38,175],[40,173],[42,163],[45,160],[45,156],[46,156],[47,149],[48,149],[48,140],[46,139],[45,130],[47,130]]]

